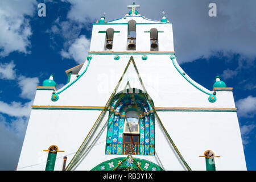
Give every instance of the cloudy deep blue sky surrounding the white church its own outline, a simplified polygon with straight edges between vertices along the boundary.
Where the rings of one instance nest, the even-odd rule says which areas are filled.
[[[38,4],[46,3],[46,17]],[[135,1],[139,13],[173,22],[177,61],[193,80],[212,89],[216,75],[233,87],[247,169],[256,169],[256,2],[214,1],[217,16],[208,16],[212,1]],[[83,63],[92,23],[121,18],[132,1],[0,2],[0,170],[14,169],[26,132],[36,86],[51,73],[57,88],[65,70]],[[3,150],[5,148],[5,150]]]

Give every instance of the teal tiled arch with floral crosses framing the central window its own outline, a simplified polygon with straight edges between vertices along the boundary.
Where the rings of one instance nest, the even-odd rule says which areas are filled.
[[[139,89],[127,89],[125,93],[122,91],[114,97],[109,112],[105,151],[107,155],[127,154],[127,144],[123,137],[124,128],[127,126],[126,113],[131,110],[139,114],[139,142],[132,144],[135,148],[133,155],[155,155],[155,116],[146,97],[146,94]]]

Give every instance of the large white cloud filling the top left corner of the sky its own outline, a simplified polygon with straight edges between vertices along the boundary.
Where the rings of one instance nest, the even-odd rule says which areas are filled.
[[[0,1],[0,56],[10,52],[28,53],[32,35],[28,19],[35,13],[36,0]]]

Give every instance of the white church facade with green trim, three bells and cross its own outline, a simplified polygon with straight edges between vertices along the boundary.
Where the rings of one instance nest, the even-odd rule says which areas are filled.
[[[17,169],[246,170],[233,88],[192,80],[166,16],[129,7],[93,24],[63,88],[53,75],[38,86]]]

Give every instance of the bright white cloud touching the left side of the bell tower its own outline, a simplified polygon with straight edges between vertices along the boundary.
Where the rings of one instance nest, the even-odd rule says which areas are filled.
[[[74,59],[77,63],[84,63],[90,48],[90,41],[81,35],[76,41],[71,44],[68,51],[61,50],[60,54],[63,58]]]

